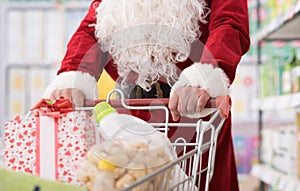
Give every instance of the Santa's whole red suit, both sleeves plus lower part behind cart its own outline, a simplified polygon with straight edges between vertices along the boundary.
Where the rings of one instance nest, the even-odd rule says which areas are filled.
[[[90,26],[96,23],[95,9],[99,3],[100,0],[94,0],[91,3],[87,15],[68,44],[66,55],[58,73],[66,71],[87,72],[94,76],[95,80],[98,80],[101,70],[106,64],[107,72],[113,79],[117,79],[116,67],[112,64],[109,56],[97,46],[97,39],[94,35],[95,29]],[[211,12],[207,18],[208,23],[200,25],[202,35],[199,39],[205,44],[204,51],[199,47],[199,43],[194,44],[190,59],[184,63],[179,63],[178,66],[180,69],[184,69],[193,62],[199,61],[218,64],[232,83],[241,56],[247,52],[250,46],[247,0],[207,0],[207,3]],[[214,80],[212,82],[218,83]],[[61,81],[57,83],[61,83]],[[85,87],[86,85],[81,84],[81,86]],[[180,132],[180,135],[182,134],[184,132]],[[204,180],[204,177],[201,180]],[[231,137],[231,119],[229,117],[219,134],[215,172],[210,183],[210,190],[238,191],[238,189]],[[201,181],[200,190],[204,190],[204,181]]]

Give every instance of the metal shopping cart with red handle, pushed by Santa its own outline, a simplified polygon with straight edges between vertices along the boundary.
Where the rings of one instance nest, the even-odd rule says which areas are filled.
[[[120,99],[111,99],[113,93],[120,94]],[[158,168],[152,173],[133,182],[122,191],[196,191],[200,188],[201,181],[205,181],[205,190],[209,189],[209,182],[214,173],[214,162],[216,145],[219,132],[230,110],[229,96],[211,99],[206,105],[209,118],[196,120],[195,122],[174,123],[169,120],[169,110],[166,107],[168,99],[124,99],[124,94],[119,89],[109,92],[106,102],[110,102],[117,108],[119,113],[131,111],[137,117],[145,117],[151,111],[161,110],[165,114],[163,122],[149,122],[152,126],[168,135],[172,128],[189,128],[194,131],[195,137],[186,140],[184,137],[177,137],[172,141],[172,146],[180,156],[168,164]],[[100,101],[87,102],[87,106],[94,106]],[[86,107],[86,109],[89,109]],[[139,113],[136,113],[139,112]],[[139,115],[139,116],[138,116]],[[161,116],[161,113],[159,114]],[[174,129],[173,129],[174,130]],[[203,156],[207,156],[207,164],[203,164]],[[206,173],[205,180],[201,175]]]

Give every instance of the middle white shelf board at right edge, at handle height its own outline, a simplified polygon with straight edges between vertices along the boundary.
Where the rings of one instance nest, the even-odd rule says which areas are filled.
[[[300,92],[287,95],[256,98],[252,103],[252,108],[262,111],[276,111],[283,109],[300,108]]]

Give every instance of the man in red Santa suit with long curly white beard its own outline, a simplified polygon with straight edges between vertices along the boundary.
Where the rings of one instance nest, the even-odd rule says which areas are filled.
[[[139,88],[140,97],[171,95],[174,120],[197,117],[211,97],[228,94],[249,45],[247,0],[94,0],[44,97],[96,99],[105,69],[123,89],[134,83],[131,97]],[[229,117],[210,190],[238,190],[231,139]]]

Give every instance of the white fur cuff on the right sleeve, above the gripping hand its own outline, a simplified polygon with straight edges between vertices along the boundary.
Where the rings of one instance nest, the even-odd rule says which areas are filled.
[[[183,86],[205,89],[211,97],[225,96],[229,93],[229,79],[225,72],[211,64],[194,63],[184,69],[173,85],[171,94],[176,88]]]

